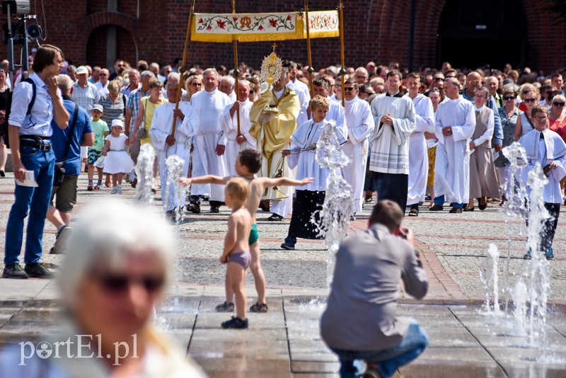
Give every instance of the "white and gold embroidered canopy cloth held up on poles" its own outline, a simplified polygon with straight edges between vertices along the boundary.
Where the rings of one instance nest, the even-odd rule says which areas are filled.
[[[191,40],[260,42],[306,39],[304,12],[195,13]],[[311,38],[339,37],[337,11],[308,12]]]

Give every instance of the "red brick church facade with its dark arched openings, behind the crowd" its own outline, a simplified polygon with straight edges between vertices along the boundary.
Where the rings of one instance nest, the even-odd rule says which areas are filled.
[[[52,0],[37,22],[47,31],[44,43],[62,47],[76,65],[109,66],[116,58],[171,64],[183,55],[190,0]],[[366,62],[408,65],[411,0],[347,0],[346,65]],[[310,1],[311,11],[337,8],[337,0]],[[566,66],[566,24],[555,23],[544,1],[415,1],[413,68],[455,67],[505,62],[545,73]],[[238,12],[301,11],[302,0],[236,1]],[[33,3],[32,3],[33,9]],[[231,1],[197,1],[197,13],[230,13]],[[259,67],[271,42],[241,43],[239,59]],[[278,42],[284,59],[306,64],[306,41]],[[340,62],[338,38],[312,40],[313,67]],[[33,46],[33,44],[32,44]],[[233,65],[231,44],[190,42],[188,63],[201,67]]]

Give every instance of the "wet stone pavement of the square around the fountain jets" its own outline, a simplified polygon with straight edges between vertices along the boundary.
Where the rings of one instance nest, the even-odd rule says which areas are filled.
[[[8,173],[8,177],[12,177]],[[79,179],[79,206],[103,200],[110,190],[87,192]],[[133,190],[122,195],[129,200]],[[156,195],[152,207],[161,211]],[[13,202],[13,181],[0,180],[0,246],[4,247],[8,211]],[[248,314],[246,331],[222,330],[229,314],[214,312],[224,301],[224,268],[218,256],[229,210],[209,214],[185,214],[179,230],[178,277],[174,290],[156,317],[156,325],[186,349],[211,377],[337,377],[335,355],[320,340],[318,322],[325,307],[326,251],[321,241],[301,241],[296,251],[279,248],[289,227],[269,222],[269,213],[258,212],[262,267],[267,280],[267,314]],[[564,208],[562,208],[562,211]],[[366,227],[370,207],[352,222],[351,232]],[[563,216],[563,214],[562,214]],[[555,236],[556,260],[550,262],[551,294],[545,342],[518,334],[514,319],[485,314],[484,290],[478,266],[490,243],[499,247],[499,287],[504,288],[507,248],[511,259],[509,279],[526,279],[529,262],[524,237],[518,232],[508,240],[508,225],[497,205],[484,212],[464,214],[422,210],[420,217],[406,218],[416,234],[429,294],[424,301],[403,296],[399,313],[412,316],[427,331],[431,344],[423,355],[403,367],[404,377],[565,377],[566,376],[566,231],[560,219]],[[515,224],[519,226],[520,224]],[[54,228],[46,227],[44,260],[59,264],[62,257],[48,255]],[[0,268],[2,265],[0,265]],[[173,292],[173,289],[171,289]],[[248,306],[255,302],[253,280],[246,285]],[[504,293],[499,295],[503,301]],[[509,309],[513,307],[510,306]],[[57,333],[62,311],[58,306],[56,280],[0,279],[0,345],[39,341]],[[0,352],[1,353],[1,352]]]

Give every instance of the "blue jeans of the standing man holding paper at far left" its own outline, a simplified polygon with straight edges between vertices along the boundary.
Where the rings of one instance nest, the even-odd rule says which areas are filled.
[[[51,198],[55,155],[53,150],[42,151],[26,144],[20,145],[22,164],[27,171],[33,171],[37,188],[16,185],[14,204],[6,225],[6,248],[4,265],[19,263],[18,256],[23,242],[23,219],[30,214],[25,236],[26,264],[37,263],[41,258],[45,217]]]

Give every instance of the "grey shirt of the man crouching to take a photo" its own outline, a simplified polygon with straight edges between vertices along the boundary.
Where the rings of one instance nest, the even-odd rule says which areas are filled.
[[[415,251],[382,224],[342,241],[320,321],[325,343],[352,351],[381,351],[400,343],[409,326],[396,316],[400,280],[413,297],[427,294],[427,277]]]

